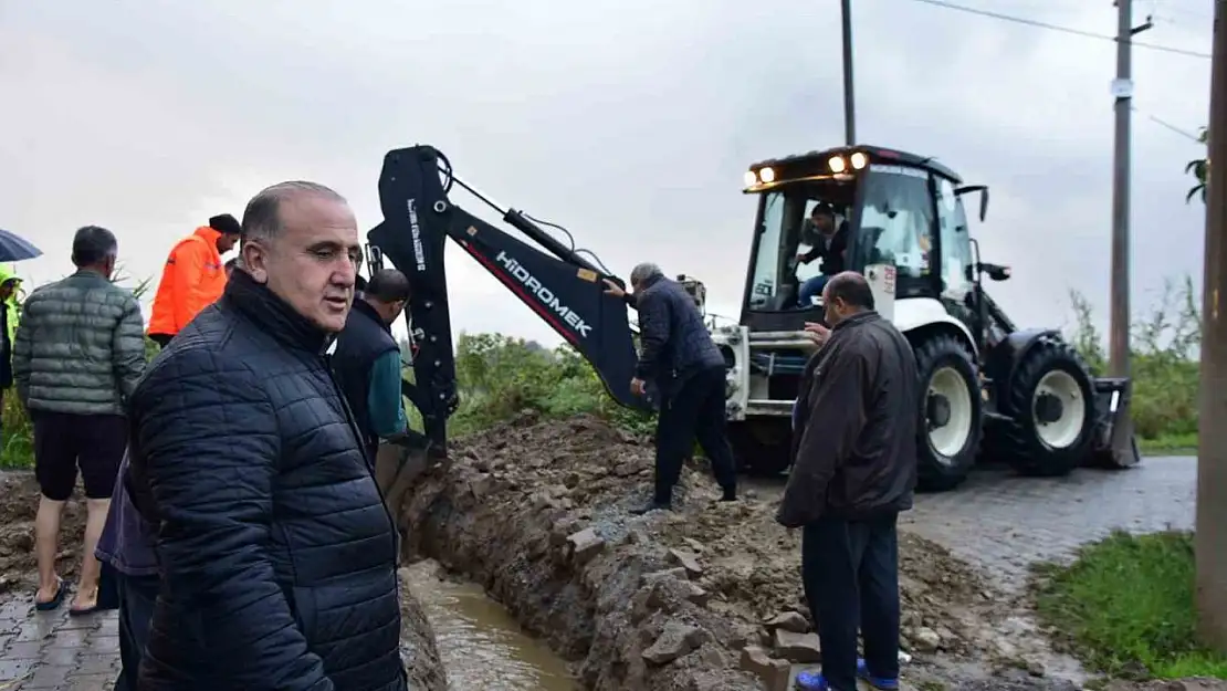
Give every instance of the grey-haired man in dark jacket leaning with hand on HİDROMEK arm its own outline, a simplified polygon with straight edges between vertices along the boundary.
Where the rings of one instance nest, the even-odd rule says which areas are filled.
[[[736,500],[736,468],[725,436],[724,357],[712,342],[694,298],[655,264],[639,264],[631,271],[633,293],[607,280],[605,292],[625,297],[639,312],[639,363],[631,390],[644,395],[650,379],[661,398],[655,491],[647,506],[632,513],[672,507],[674,486],[696,438],[712,461],[721,501]]]

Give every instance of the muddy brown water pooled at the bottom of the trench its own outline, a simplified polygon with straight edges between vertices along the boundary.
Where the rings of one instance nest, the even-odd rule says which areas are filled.
[[[409,567],[407,582],[434,628],[452,689],[579,691],[563,660],[524,633],[480,585],[443,576],[438,563]]]

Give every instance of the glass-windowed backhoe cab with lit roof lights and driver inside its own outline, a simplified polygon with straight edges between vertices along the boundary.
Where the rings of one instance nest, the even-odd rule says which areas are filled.
[[[758,195],[741,309],[751,331],[820,320],[823,276],[875,265],[893,268],[897,299],[967,307],[975,276],[962,196],[980,191],[983,215],[985,188],[960,187],[929,158],[867,146],[763,161],[745,182]]]

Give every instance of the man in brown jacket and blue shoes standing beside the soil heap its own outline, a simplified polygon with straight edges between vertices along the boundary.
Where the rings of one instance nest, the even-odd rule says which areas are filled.
[[[802,673],[798,685],[854,691],[859,675],[898,689],[894,527],[915,486],[917,365],[903,334],[874,312],[864,276],[838,274],[822,293],[831,333],[801,377],[794,464],[775,515],[802,529],[801,579],[822,643],[822,673]]]

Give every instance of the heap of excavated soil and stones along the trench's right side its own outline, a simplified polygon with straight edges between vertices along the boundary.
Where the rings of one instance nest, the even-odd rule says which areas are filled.
[[[676,512],[631,517],[652,457],[595,419],[525,414],[422,479],[401,507],[406,549],[483,584],[590,689],[778,687],[784,659],[818,658],[800,535],[774,522],[771,490],[715,502],[699,464]],[[907,649],[1026,664],[1000,626],[1011,605],[984,578],[914,535],[899,547]]]

